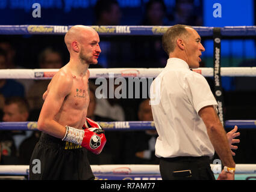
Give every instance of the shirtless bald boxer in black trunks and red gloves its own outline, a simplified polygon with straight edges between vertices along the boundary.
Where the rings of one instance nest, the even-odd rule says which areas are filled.
[[[76,25],[64,41],[70,61],[52,77],[43,94],[37,124],[43,133],[31,156],[30,179],[94,179],[87,150],[99,154],[106,142],[104,130],[86,118],[88,68],[98,63],[99,35],[90,27]],[[33,169],[38,160],[40,167]]]

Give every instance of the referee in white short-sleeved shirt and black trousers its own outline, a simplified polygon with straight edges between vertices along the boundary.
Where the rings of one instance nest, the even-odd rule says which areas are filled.
[[[162,179],[215,179],[210,167],[214,150],[224,166],[218,179],[234,179],[235,136],[227,138],[205,78],[190,70],[199,67],[205,51],[201,37],[190,26],[174,25],[162,41],[169,59],[150,92]]]

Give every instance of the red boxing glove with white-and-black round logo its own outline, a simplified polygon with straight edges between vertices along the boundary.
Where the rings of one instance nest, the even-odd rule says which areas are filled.
[[[84,138],[81,146],[98,155],[107,142],[104,130],[97,122],[92,121],[92,119],[86,118],[86,120],[92,127],[84,130]]]

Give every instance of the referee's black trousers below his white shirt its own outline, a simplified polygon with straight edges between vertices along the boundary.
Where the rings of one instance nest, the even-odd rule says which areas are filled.
[[[160,158],[163,180],[215,180],[209,157]]]

